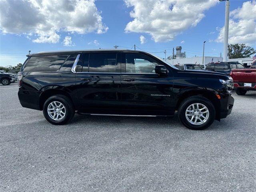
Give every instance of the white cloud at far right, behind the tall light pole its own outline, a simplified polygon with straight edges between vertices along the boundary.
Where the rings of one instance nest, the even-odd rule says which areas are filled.
[[[218,30],[218,28],[217,28]],[[224,40],[224,27],[220,28],[217,42]],[[255,45],[256,42],[256,1],[244,2],[242,8],[230,12],[228,43]]]

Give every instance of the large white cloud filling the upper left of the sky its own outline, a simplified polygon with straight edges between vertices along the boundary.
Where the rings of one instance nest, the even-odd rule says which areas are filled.
[[[60,31],[106,32],[100,14],[94,0],[0,0],[0,30],[36,36],[37,43],[57,43]]]

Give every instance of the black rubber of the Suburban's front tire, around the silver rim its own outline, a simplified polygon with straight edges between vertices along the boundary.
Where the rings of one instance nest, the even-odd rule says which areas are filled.
[[[209,112],[208,119],[205,120],[205,122],[203,122],[202,124],[198,124],[198,125],[190,123],[186,118],[187,108],[190,105],[195,104],[195,103],[199,103],[201,105],[206,106],[208,109],[208,112]],[[192,114],[192,112],[191,112],[191,114]],[[192,130],[204,130],[204,129],[208,128],[214,122],[215,116],[216,116],[216,110],[214,108],[214,105],[212,104],[212,102],[210,100],[208,100],[207,98],[202,97],[202,96],[191,96],[189,98],[186,98],[184,101],[182,101],[182,103],[180,104],[179,109],[178,109],[178,118],[179,118],[180,122],[182,122],[182,124],[184,124],[184,126],[186,126],[189,129],[192,129]],[[191,116],[191,118],[192,118],[192,116]],[[202,117],[200,117],[200,118],[203,119]],[[196,117],[196,119],[198,119],[198,120],[196,120],[196,122],[198,122],[199,118]],[[200,122],[198,122],[198,123],[200,123]]]

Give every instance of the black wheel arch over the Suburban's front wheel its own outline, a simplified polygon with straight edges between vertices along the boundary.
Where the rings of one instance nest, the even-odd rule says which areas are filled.
[[[221,107],[220,107],[220,101],[217,98],[216,94],[217,93],[213,90],[200,90],[200,89],[199,90],[187,90],[187,91],[183,92],[182,94],[178,95],[178,102],[176,104],[175,110],[178,110],[181,102],[184,99],[186,99],[190,96],[203,96],[212,102],[212,104],[214,105],[214,108],[216,110],[215,119],[220,121]]]

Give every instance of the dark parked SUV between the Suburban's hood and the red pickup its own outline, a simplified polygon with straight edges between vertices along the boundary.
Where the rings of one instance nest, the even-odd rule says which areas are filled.
[[[208,63],[205,70],[230,74],[232,69],[244,69],[245,67],[238,62],[214,62]]]

